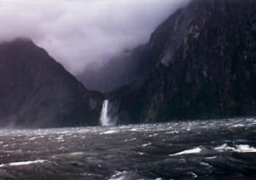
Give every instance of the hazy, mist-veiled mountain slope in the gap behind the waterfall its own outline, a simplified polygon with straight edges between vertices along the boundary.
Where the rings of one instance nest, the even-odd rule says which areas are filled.
[[[124,52],[107,60],[104,65],[88,65],[84,72],[78,76],[79,80],[90,89],[109,92],[118,87],[129,84],[145,76],[150,70],[145,53],[146,45],[125,50]],[[93,76],[93,81],[91,79]]]

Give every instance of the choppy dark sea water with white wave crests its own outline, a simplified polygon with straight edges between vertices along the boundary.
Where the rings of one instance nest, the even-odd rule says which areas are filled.
[[[256,119],[0,130],[0,179],[256,179]]]

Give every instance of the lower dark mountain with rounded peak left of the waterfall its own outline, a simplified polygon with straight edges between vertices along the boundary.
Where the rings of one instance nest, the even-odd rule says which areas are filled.
[[[89,92],[32,41],[0,44],[1,127],[96,125],[102,95]]]

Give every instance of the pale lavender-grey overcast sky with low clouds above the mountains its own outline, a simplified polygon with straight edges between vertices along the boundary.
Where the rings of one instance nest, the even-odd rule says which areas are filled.
[[[32,38],[74,75],[145,43],[188,0],[0,1],[0,42]]]

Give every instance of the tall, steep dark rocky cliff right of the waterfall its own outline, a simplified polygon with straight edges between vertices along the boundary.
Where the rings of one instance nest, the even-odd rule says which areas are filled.
[[[194,0],[148,47],[154,70],[110,94],[120,123],[256,115],[256,1]]]

